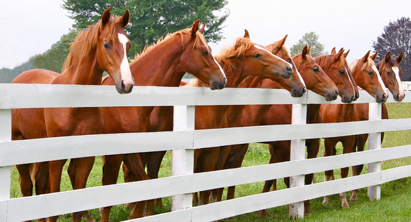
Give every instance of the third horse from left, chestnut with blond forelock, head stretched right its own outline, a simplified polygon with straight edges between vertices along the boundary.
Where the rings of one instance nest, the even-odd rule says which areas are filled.
[[[232,47],[223,48],[216,60],[227,73],[226,87],[236,88],[249,75],[271,78],[273,75],[290,78],[292,65],[281,58],[251,42],[249,36],[238,37]],[[199,84],[200,83],[200,84]],[[187,86],[201,86],[195,82]],[[226,114],[229,106],[198,106],[195,110],[195,130],[206,130],[228,127]],[[228,147],[211,147],[195,150],[195,173],[213,171],[219,158],[225,159]],[[210,190],[201,191],[199,205],[208,204]],[[212,202],[216,201],[213,197]]]

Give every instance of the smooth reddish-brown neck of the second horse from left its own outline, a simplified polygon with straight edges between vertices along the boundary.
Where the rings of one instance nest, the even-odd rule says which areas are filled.
[[[170,36],[130,64],[136,86],[179,86],[185,71],[179,67],[181,36]]]

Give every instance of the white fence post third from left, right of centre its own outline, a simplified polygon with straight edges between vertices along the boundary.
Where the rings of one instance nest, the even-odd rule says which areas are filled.
[[[307,105],[292,105],[292,124],[306,124]],[[306,140],[291,140],[290,161],[302,160],[306,158]],[[290,177],[290,187],[304,186],[304,175]],[[288,217],[297,219],[304,217],[304,202],[290,204]]]

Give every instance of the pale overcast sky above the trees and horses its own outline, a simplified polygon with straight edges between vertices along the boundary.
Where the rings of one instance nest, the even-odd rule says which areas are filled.
[[[0,7],[0,69],[12,69],[30,56],[43,53],[73,21],[61,8],[62,0],[12,0]],[[210,43],[213,54],[232,45],[244,29],[251,40],[269,45],[288,34],[286,47],[295,45],[306,32],[319,35],[319,42],[330,52],[333,47],[351,49],[348,62],[360,58],[382,33],[389,21],[411,17],[410,0],[229,0],[230,15],[218,44]],[[206,29],[207,30],[207,29]],[[398,56],[398,55],[395,55]]]

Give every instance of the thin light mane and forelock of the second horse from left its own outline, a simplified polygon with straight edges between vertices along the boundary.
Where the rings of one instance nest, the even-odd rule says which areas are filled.
[[[185,47],[184,34],[190,34],[190,31],[191,31],[190,28],[182,29],[182,30],[177,31],[173,34],[167,34],[165,37],[158,38],[157,42],[153,43],[152,45],[149,45],[149,46],[146,45],[141,53],[136,53],[136,55],[134,55],[134,58],[132,59],[132,62],[130,63],[130,65],[134,64],[134,62],[137,62],[142,57],[146,56],[147,53],[149,53],[150,51],[155,49],[155,47],[157,47],[158,45],[166,42],[167,40],[170,40],[171,38],[173,38],[174,36],[177,36],[177,35],[180,35],[181,38],[182,38],[182,49],[184,51],[184,47]],[[206,38],[204,38],[203,34],[201,34],[200,32],[196,32],[195,40],[194,40],[194,44],[193,44],[193,49],[199,49],[201,44],[207,45],[207,40],[206,40]]]

